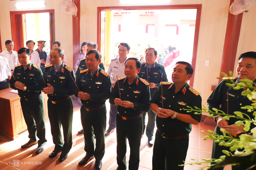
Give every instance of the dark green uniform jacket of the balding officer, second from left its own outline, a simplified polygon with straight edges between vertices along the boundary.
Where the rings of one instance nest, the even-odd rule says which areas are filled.
[[[46,66],[44,71],[44,81],[46,84],[49,83],[54,88],[53,94],[47,95],[51,101],[59,101],[67,98],[68,96],[72,96],[75,89],[77,89],[74,82],[76,81],[75,72],[63,62],[58,72],[55,72],[54,66]]]

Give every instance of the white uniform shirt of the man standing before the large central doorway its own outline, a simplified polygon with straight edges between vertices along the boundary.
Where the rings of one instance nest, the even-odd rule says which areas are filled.
[[[125,62],[120,63],[119,58],[111,60],[110,65],[108,67],[108,74],[110,74],[112,84],[116,83],[117,81],[116,75],[117,75],[117,78],[125,77]]]

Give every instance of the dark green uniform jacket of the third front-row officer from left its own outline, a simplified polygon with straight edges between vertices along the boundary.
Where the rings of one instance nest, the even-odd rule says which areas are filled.
[[[91,77],[88,69],[87,71],[80,73],[77,77],[76,84],[80,91],[90,94],[90,99],[81,100],[86,108],[100,107],[104,105],[105,101],[110,97],[110,89],[112,86],[110,75],[100,67],[98,67],[98,70],[94,73],[93,77]],[[79,90],[76,90],[76,96],[78,96]]]

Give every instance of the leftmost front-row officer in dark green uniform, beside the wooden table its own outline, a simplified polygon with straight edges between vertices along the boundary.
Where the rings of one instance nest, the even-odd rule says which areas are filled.
[[[38,147],[36,153],[41,153],[46,144],[45,123],[44,123],[44,104],[41,95],[43,89],[43,79],[41,69],[30,62],[31,52],[27,48],[18,50],[18,60],[20,65],[15,66],[13,76],[10,80],[12,89],[18,90],[20,104],[23,112],[29,141],[21,148],[27,148],[33,144]],[[37,141],[37,137],[39,140]]]

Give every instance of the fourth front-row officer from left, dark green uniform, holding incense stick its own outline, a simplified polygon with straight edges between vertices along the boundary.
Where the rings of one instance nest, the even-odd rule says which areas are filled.
[[[126,170],[126,140],[130,144],[129,170],[137,170],[140,162],[142,113],[150,110],[149,84],[139,78],[141,63],[136,58],[125,61],[126,77],[119,78],[109,102],[117,105],[117,170]],[[119,93],[120,90],[120,93]]]

